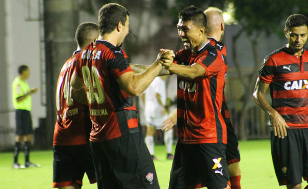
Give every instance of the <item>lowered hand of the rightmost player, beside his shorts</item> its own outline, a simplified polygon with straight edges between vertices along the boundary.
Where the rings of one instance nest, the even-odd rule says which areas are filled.
[[[284,138],[287,136],[287,128],[289,127],[286,121],[281,117],[278,112],[274,112],[271,115],[272,126],[274,128],[275,136],[278,135],[279,138]]]

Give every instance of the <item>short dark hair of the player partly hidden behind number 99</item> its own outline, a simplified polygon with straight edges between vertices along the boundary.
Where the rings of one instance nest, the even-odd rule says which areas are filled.
[[[98,25],[93,22],[83,22],[79,24],[75,33],[75,39],[79,47],[90,44],[98,36]]]

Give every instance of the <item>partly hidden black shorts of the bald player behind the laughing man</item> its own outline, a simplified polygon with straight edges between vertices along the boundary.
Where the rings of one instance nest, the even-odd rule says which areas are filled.
[[[227,125],[227,146],[226,146],[226,159],[227,164],[236,163],[240,161],[238,141],[235,135],[235,130],[231,123]]]

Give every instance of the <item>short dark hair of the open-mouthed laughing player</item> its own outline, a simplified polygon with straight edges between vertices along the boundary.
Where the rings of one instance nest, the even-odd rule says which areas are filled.
[[[179,19],[183,20],[184,22],[193,21],[195,25],[200,27],[206,28],[207,25],[206,15],[203,10],[193,5],[181,10],[179,13]]]

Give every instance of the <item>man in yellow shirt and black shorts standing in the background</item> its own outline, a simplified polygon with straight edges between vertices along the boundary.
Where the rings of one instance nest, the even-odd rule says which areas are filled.
[[[30,162],[30,148],[33,140],[33,127],[31,118],[31,95],[37,92],[37,88],[30,89],[26,79],[30,76],[30,69],[27,65],[20,65],[18,67],[19,76],[16,77],[12,84],[12,99],[15,111],[16,121],[16,139],[14,148],[14,163],[13,168],[25,168],[25,167],[40,167]],[[20,165],[18,163],[18,154],[24,142],[25,148],[25,164]]]

